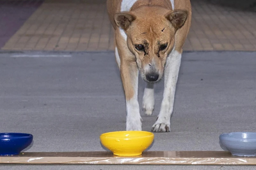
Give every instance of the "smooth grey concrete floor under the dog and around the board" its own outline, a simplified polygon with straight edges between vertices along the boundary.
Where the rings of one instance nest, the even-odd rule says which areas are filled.
[[[222,132],[256,131],[256,53],[184,53],[171,132],[150,150],[221,150]],[[125,130],[125,100],[113,52],[0,53],[1,132],[33,134],[26,152],[103,151],[99,136]],[[139,100],[144,82],[139,85]],[[159,113],[143,118],[150,131]],[[1,165],[0,169],[255,169],[253,166]]]

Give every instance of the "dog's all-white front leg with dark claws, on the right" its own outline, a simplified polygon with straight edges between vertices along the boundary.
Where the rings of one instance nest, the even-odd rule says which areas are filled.
[[[164,69],[164,94],[161,110],[156,123],[152,126],[153,132],[170,132],[170,118],[173,112],[176,83],[180,68],[181,53],[173,50],[167,57]]]

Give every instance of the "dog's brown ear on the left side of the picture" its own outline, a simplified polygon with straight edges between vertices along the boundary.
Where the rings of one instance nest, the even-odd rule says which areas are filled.
[[[132,15],[131,13],[122,12],[115,14],[116,25],[124,30],[127,30],[135,19],[135,15]]]

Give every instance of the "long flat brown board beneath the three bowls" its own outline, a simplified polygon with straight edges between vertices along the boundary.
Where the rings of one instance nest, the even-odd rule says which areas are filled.
[[[0,157],[0,164],[256,165],[256,157],[235,157],[225,151],[150,151],[136,157],[111,152],[24,152]]]

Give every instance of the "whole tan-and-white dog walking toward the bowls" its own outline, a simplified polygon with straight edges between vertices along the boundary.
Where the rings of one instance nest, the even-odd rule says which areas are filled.
[[[154,83],[164,75],[161,110],[153,132],[170,132],[182,46],[191,24],[189,0],[108,0],[115,56],[126,99],[126,130],[141,131],[138,74],[147,82],[143,110],[154,110]]]

